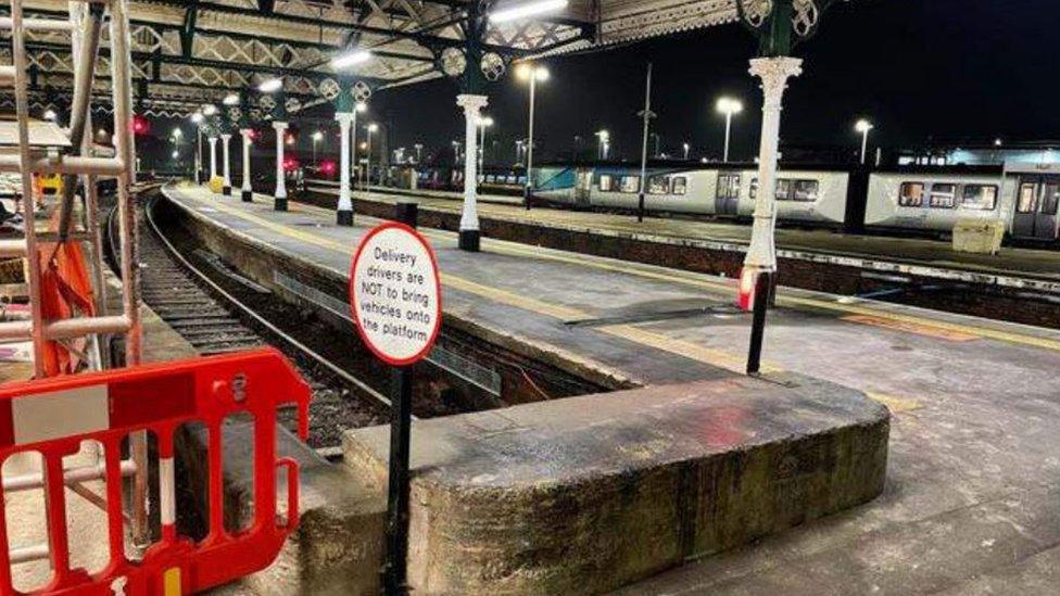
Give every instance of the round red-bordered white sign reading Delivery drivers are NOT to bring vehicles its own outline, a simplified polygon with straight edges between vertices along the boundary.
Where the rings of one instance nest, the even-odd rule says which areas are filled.
[[[404,224],[374,228],[350,266],[350,310],[373,354],[392,366],[419,362],[442,326],[438,261],[427,240]]]

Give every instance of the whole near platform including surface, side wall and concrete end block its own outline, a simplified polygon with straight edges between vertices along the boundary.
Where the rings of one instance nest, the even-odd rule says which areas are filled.
[[[174,225],[267,286],[282,274],[343,287],[358,238],[378,223],[358,215],[356,227],[337,227],[330,210],[299,203],[277,213],[264,195],[165,194]],[[783,287],[767,373],[748,380],[739,372],[749,322],[729,307],[731,279],[493,239],[470,254],[449,231],[425,232],[446,327],[622,391],[416,422],[411,573],[420,585],[481,587],[489,575],[516,591],[594,591],[719,551],[631,589],[962,593],[997,578],[1010,587],[1048,579],[1060,542],[1060,333]],[[771,417],[777,407],[783,416]],[[383,433],[345,435],[346,465],[380,483]],[[747,441],[740,433],[755,446],[734,455],[724,446]],[[858,473],[846,473],[854,460]],[[885,481],[870,471],[883,465]],[[737,468],[747,475],[731,475]],[[761,490],[766,502],[748,500]],[[501,493],[510,507],[490,509]],[[706,502],[740,520],[720,542],[708,538],[719,527]],[[640,523],[622,517],[630,507]],[[834,515],[785,530],[824,513]],[[552,534],[528,534],[533,520]],[[603,534],[586,544],[590,530]],[[510,565],[483,575],[466,565],[476,557]],[[581,583],[564,583],[572,576]]]

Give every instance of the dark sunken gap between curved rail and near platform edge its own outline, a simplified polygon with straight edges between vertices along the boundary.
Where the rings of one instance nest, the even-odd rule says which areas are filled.
[[[378,363],[349,319],[346,288],[293,259],[277,262],[216,228],[197,225],[164,198],[155,220],[178,251],[225,291],[383,395],[392,371]],[[262,287],[268,291],[263,292]],[[432,418],[601,393],[608,386],[443,324],[429,358],[413,369],[413,414]]]

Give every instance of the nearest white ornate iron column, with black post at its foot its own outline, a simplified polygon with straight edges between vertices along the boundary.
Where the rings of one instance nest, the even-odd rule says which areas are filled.
[[[811,37],[821,15],[837,0],[735,0],[740,22],[758,39],[758,58],[750,74],[761,79],[762,125],[758,155],[758,194],[755,199],[750,245],[740,276],[740,306],[752,309],[747,373],[761,368],[766,310],[772,300],[777,274],[774,228],[777,223],[777,162],[784,90],[792,77],[803,74],[803,61],[792,56],[796,41]]]

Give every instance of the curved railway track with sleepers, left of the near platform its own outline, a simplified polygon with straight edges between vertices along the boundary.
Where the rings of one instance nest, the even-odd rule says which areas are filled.
[[[341,453],[343,430],[386,421],[386,408],[389,407],[386,396],[226,291],[215,281],[217,276],[227,276],[247,286],[249,292],[270,293],[227,269],[209,253],[197,250],[193,255],[184,254],[152,217],[151,203],[151,200],[147,201],[139,218],[140,292],[143,302],[166,325],[204,356],[266,345],[281,350],[313,390],[308,443],[324,456]],[[112,266],[117,265],[118,258],[111,250],[116,245],[115,223],[112,213],[106,220],[108,254]],[[281,413],[281,419],[293,430],[293,413],[290,414],[292,416]]]

